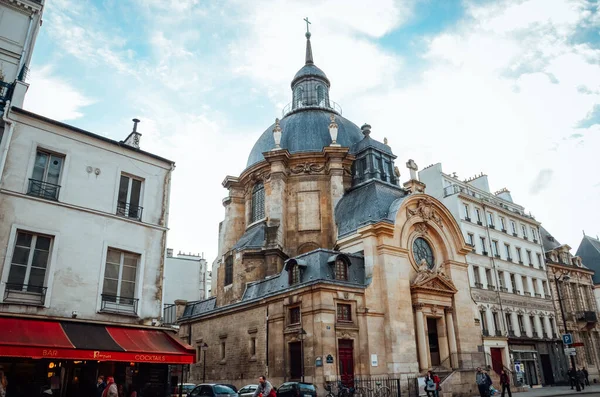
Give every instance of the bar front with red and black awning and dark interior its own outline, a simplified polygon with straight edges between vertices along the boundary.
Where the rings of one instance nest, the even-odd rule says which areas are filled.
[[[99,376],[113,376],[124,396],[170,392],[169,365],[194,362],[195,352],[168,332],[135,328],[0,318],[0,370],[7,397],[95,396]]]

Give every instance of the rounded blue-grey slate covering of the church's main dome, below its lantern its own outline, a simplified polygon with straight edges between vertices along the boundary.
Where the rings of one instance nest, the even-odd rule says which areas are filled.
[[[329,117],[333,111],[326,109],[304,109],[290,113],[281,119],[281,148],[290,153],[321,152],[331,144],[329,135]],[[337,142],[344,147],[351,147],[363,139],[360,128],[350,120],[335,114],[338,124]],[[247,167],[264,160],[263,153],[275,147],[272,124],[262,133],[248,156]]]

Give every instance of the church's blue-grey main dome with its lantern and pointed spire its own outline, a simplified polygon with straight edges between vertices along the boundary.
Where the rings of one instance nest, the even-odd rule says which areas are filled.
[[[340,107],[329,100],[329,79],[313,61],[310,33],[306,34],[306,60],[304,66],[292,80],[292,102],[284,109],[281,119],[282,149],[290,153],[321,152],[331,144],[329,124],[331,115],[335,115],[338,124],[337,143],[351,147],[363,139],[363,134],[354,124],[341,115]],[[254,144],[247,167],[264,160],[263,153],[275,147],[273,128],[262,133]]]

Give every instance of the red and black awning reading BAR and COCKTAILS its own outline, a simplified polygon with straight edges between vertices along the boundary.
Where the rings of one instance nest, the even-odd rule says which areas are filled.
[[[0,317],[0,357],[191,364],[195,351],[167,332]]]

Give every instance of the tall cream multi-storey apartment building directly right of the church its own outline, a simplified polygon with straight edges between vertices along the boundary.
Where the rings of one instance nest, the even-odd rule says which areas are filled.
[[[473,251],[467,256],[471,295],[479,308],[482,345],[496,372],[547,385],[563,380],[566,360],[558,343],[539,226],[508,190],[492,193],[486,175],[464,181],[441,164],[419,172],[427,193],[444,203]]]

